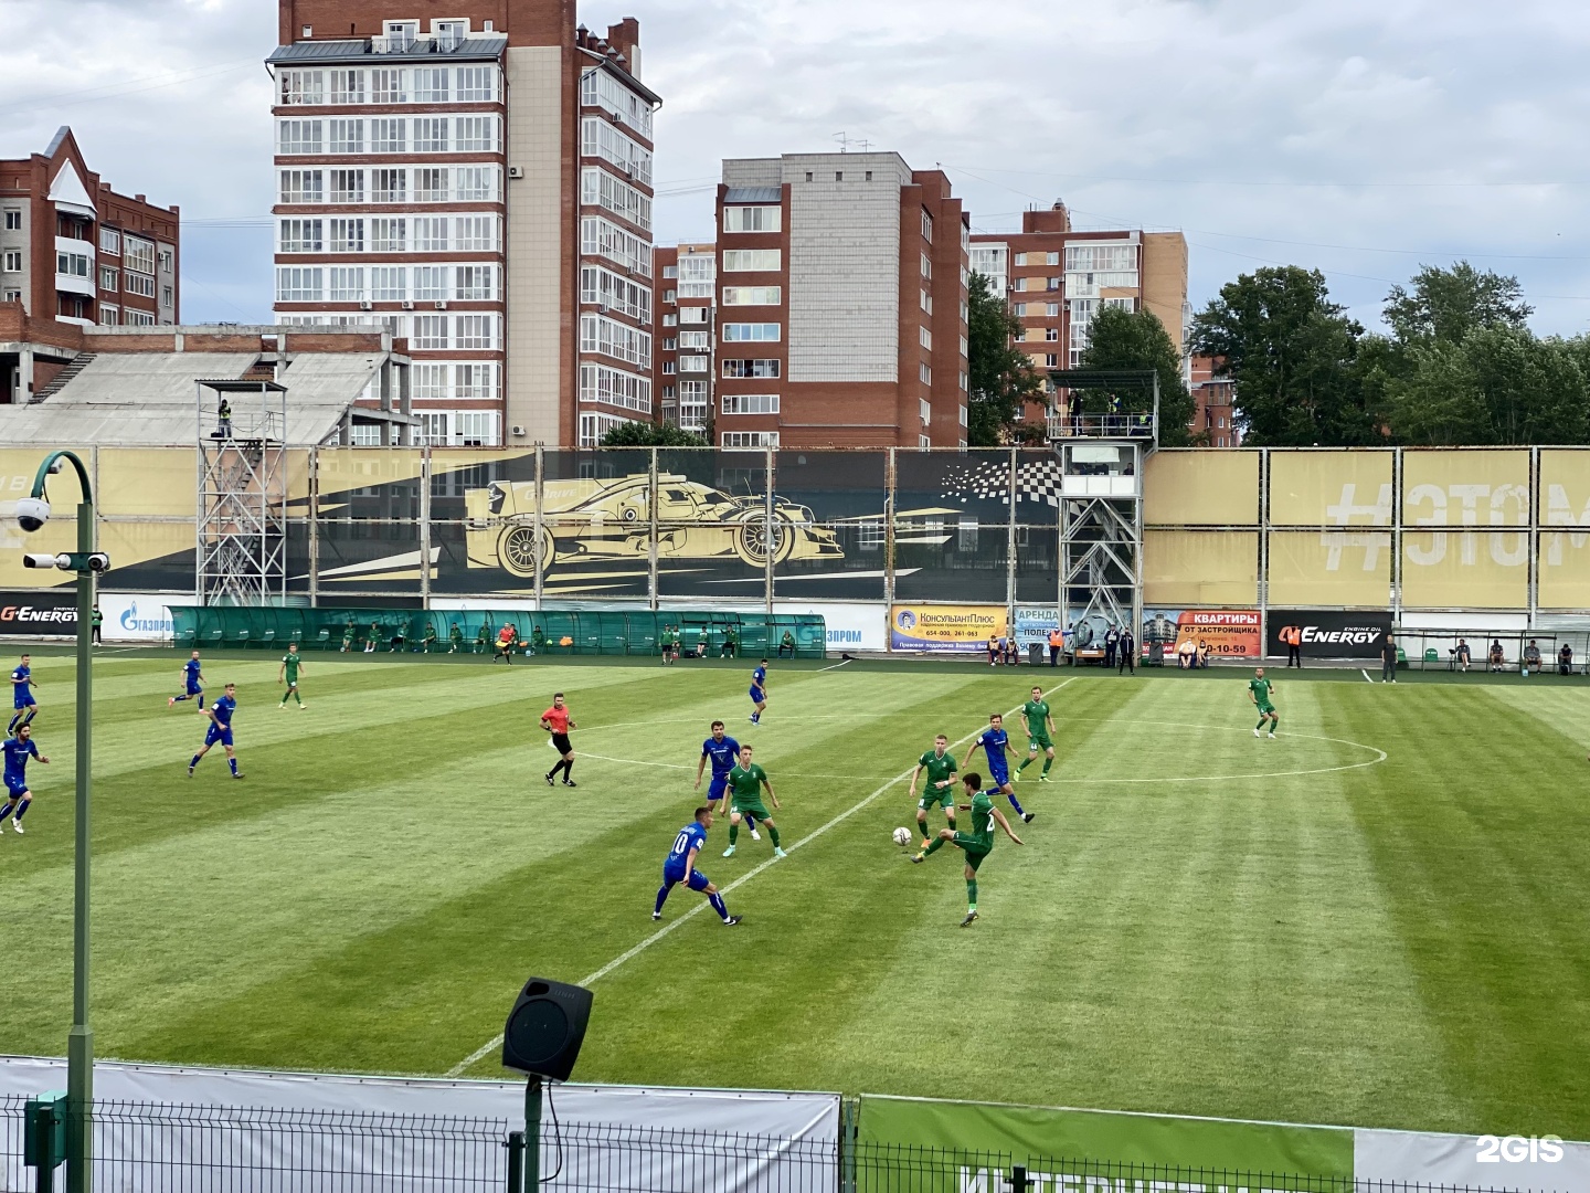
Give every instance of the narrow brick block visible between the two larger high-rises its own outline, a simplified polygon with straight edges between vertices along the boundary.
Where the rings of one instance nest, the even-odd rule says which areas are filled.
[[[717,245],[657,250],[657,383],[661,422],[704,434],[712,406]]]

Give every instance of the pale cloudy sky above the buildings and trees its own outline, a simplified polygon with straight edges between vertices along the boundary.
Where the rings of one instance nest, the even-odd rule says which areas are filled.
[[[1057,197],[1080,227],[1180,229],[1196,307],[1296,262],[1374,324],[1393,282],[1468,258],[1522,278],[1538,331],[1590,331],[1590,8],[1571,0],[612,0],[580,16],[641,19],[666,100],[660,242],[712,235],[722,157],[843,134],[940,164],[978,231]],[[273,45],[273,0],[0,0],[0,156],[70,124],[114,186],[181,205],[184,318],[266,321]]]

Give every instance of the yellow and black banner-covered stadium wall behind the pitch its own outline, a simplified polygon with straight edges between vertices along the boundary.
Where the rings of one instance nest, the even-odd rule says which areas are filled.
[[[151,616],[135,622],[156,619],[154,598],[191,600],[196,450],[84,455],[107,600],[138,598]],[[1048,450],[286,455],[289,603],[782,608],[822,612],[854,649],[917,649],[929,625],[940,647],[1030,641],[1057,616]],[[0,449],[0,590],[67,579],[21,568],[6,517],[38,458]],[[72,496],[52,492],[59,514],[29,550],[70,549]],[[1299,611],[1479,633],[1590,609],[1590,449],[1164,450],[1143,527],[1146,606],[1251,612],[1261,641]]]

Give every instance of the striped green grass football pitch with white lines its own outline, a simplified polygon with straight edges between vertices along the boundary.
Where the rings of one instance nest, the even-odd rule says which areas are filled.
[[[577,1078],[1590,1137],[1582,681],[1272,671],[1282,736],[1256,741],[1235,670],[785,663],[750,729],[749,666],[312,654],[308,708],[278,711],[275,657],[210,659],[213,695],[240,686],[234,783],[219,751],[186,778],[204,721],[167,709],[176,655],[103,654],[99,1055],[453,1071],[526,975],[582,981],[653,937],[722,717],[790,857],[728,894],[739,927],[696,913],[595,981]],[[59,1055],[70,659],[35,674],[52,765],[0,838],[0,1050]],[[999,840],[960,931],[957,854],[890,841],[903,773],[937,732],[964,757],[1034,676],[1059,686],[1059,783],[1027,771],[1029,843]],[[542,781],[555,690],[577,791]],[[771,856],[725,845],[720,824],[720,886]],[[701,903],[676,889],[665,926]]]

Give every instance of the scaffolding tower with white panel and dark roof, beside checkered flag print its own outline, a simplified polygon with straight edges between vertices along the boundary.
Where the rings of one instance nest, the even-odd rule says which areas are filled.
[[[1049,415],[1061,457],[1061,624],[1143,627],[1143,461],[1159,445],[1159,375],[1153,369],[1049,374],[1065,409]],[[1083,394],[1094,396],[1088,402]],[[1084,410],[1088,404],[1103,410]],[[1100,625],[1100,622],[1103,625]]]

